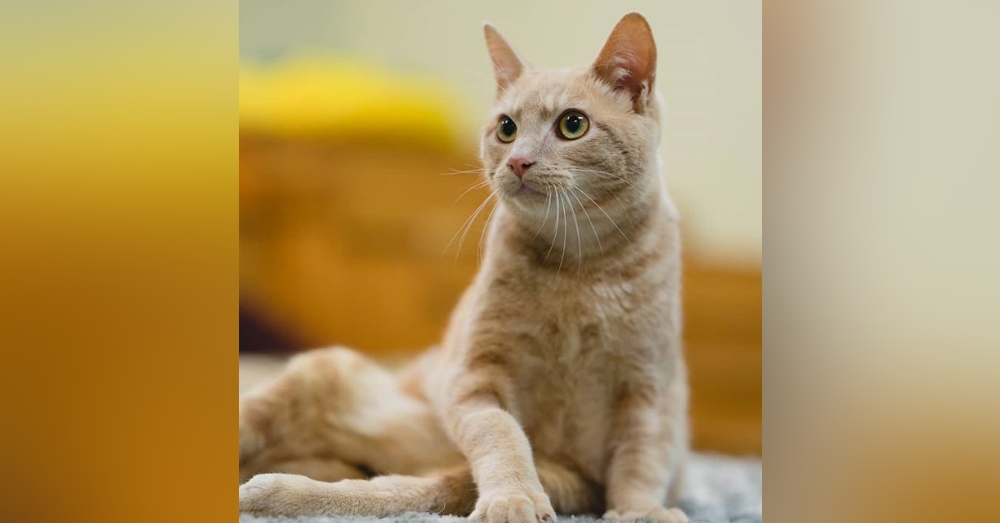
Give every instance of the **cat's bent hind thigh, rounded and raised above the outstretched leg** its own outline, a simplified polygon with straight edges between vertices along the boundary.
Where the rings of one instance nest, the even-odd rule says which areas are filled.
[[[417,474],[462,460],[426,402],[342,347],[297,355],[241,396],[239,425],[240,483],[265,472],[326,480]]]

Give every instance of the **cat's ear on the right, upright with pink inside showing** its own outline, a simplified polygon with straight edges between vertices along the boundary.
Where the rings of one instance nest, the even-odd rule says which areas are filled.
[[[592,67],[608,85],[628,91],[637,113],[645,112],[656,79],[656,42],[649,22],[639,13],[625,15]]]

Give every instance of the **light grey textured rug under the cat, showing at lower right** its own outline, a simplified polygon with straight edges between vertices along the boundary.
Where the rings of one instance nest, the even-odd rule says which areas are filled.
[[[681,489],[679,507],[691,523],[762,523],[763,465],[760,459],[732,458],[713,454],[691,457],[687,477]],[[240,523],[457,523],[463,518],[434,514],[405,514],[394,518],[372,517],[301,517],[258,518],[241,515]],[[596,517],[562,516],[559,521],[594,523]]]

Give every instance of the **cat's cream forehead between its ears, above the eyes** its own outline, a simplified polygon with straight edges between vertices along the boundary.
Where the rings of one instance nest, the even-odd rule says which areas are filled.
[[[585,110],[593,82],[579,69],[536,69],[511,85],[496,110],[512,117]]]

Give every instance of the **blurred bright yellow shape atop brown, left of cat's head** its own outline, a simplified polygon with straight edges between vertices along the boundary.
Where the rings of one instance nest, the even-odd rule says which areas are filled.
[[[356,60],[299,54],[240,64],[240,130],[452,150],[456,99],[437,79]]]

